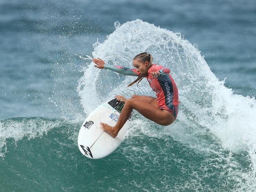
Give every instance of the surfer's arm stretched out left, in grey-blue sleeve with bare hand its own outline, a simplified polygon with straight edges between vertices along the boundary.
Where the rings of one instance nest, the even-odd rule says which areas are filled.
[[[139,76],[139,73],[137,72],[136,69],[130,69],[122,66],[108,65],[100,58],[93,58],[92,61],[93,63],[96,64],[95,67],[100,69],[105,68],[105,69],[110,69],[112,71],[115,71],[117,73],[121,73],[123,75]]]

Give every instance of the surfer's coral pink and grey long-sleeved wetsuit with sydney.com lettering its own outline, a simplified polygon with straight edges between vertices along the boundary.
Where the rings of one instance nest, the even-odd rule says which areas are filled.
[[[122,66],[112,66],[105,64],[104,68],[113,70],[115,72],[130,75],[139,76],[139,72],[136,69],[130,69]],[[160,76],[153,78],[152,72],[160,72]],[[158,103],[158,108],[161,110],[167,110],[173,114],[174,118],[177,118],[179,111],[179,97],[178,88],[174,79],[169,74],[170,70],[161,65],[152,64],[148,69],[148,74],[146,76],[148,83],[152,90],[156,92],[156,100]]]

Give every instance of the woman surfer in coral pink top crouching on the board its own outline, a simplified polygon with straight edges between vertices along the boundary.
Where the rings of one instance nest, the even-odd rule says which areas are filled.
[[[138,76],[127,87],[137,81],[140,82],[145,77],[150,87],[156,92],[156,98],[145,95],[133,95],[132,98],[126,99],[124,96],[116,95],[117,100],[124,103],[117,124],[111,127],[108,124],[100,123],[102,129],[111,137],[115,138],[117,136],[132,113],[132,109],[163,126],[174,122],[179,109],[176,83],[169,74],[170,70],[168,68],[152,63],[153,57],[151,54],[140,53],[136,55],[132,61],[132,65],[135,67],[133,69],[108,65],[100,58],[93,58],[92,61],[96,64],[95,67],[100,69],[106,68],[124,75]]]

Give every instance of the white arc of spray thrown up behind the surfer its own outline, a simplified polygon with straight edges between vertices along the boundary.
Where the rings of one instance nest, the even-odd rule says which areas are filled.
[[[111,65],[131,68],[134,55],[140,52],[150,52],[154,55],[154,63],[170,68],[178,86],[179,121],[172,128],[166,129],[177,138],[185,137],[181,131],[173,131],[179,124],[196,127],[193,128],[195,133],[201,131],[197,129],[208,129],[220,140],[224,149],[238,154],[245,149],[252,163],[252,172],[244,174],[250,175],[248,178],[242,177],[246,182],[256,183],[253,177],[256,167],[255,99],[233,94],[231,89],[224,87],[224,81],[219,81],[211,72],[197,47],[183,39],[180,33],[173,33],[142,20],[117,25],[116,30],[103,43],[95,44],[92,54]],[[95,69],[91,63],[78,85],[85,112],[94,109],[114,94],[154,96],[145,81],[141,82],[139,88],[133,86],[126,89],[126,85],[133,79],[108,70]],[[91,90],[90,94],[86,91],[88,88]],[[185,140],[180,141],[186,142]]]

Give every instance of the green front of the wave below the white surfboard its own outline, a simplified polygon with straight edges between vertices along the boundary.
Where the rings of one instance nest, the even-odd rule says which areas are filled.
[[[231,155],[209,132],[198,135],[202,147],[198,150],[167,135],[145,135],[156,127],[144,133],[136,128],[111,155],[91,160],[78,150],[81,122],[40,117],[1,120],[13,131],[20,127],[11,125],[20,123],[24,137],[17,142],[8,138],[7,152],[0,159],[1,191],[236,191],[246,185],[242,175],[250,165],[247,154]],[[49,130],[33,137],[24,130],[32,126],[38,130],[42,124]]]

